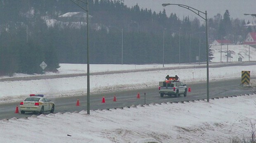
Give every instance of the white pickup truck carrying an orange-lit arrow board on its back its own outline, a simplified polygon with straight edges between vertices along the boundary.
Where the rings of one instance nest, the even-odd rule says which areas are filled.
[[[187,96],[187,85],[178,80],[178,76],[166,76],[166,81],[159,82],[159,93],[164,95],[178,97],[179,95]]]

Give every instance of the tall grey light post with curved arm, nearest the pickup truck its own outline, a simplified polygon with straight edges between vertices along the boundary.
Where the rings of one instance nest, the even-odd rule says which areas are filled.
[[[201,18],[203,18],[205,20],[205,25],[206,25],[206,78],[207,78],[207,102],[209,102],[209,47],[208,47],[208,34],[207,34],[207,11],[205,12],[201,12],[197,9],[194,9],[193,7],[187,6],[187,5],[182,5],[182,4],[171,4],[171,3],[163,3],[162,6],[165,7],[167,5],[178,5],[179,7],[183,7],[185,9],[188,9],[192,12],[194,12],[195,14],[197,14],[198,16],[200,16]],[[205,18],[203,16],[201,16],[200,14],[204,14]]]

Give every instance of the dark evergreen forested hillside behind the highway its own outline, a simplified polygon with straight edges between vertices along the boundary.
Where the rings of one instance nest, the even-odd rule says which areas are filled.
[[[167,16],[164,8],[128,8],[123,1],[89,0],[91,64],[162,63],[163,55],[165,63],[197,62],[196,56],[206,61],[200,17],[180,19],[175,13]],[[78,4],[86,9],[83,2]],[[56,71],[59,63],[87,63],[86,18],[64,21],[59,16],[67,12],[85,11],[71,0],[0,0],[0,75],[42,73],[42,61],[47,71]],[[208,19],[209,43],[229,39],[239,44],[250,32],[244,24],[228,10],[216,14]]]

